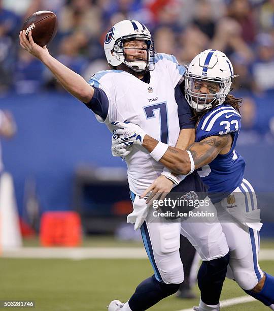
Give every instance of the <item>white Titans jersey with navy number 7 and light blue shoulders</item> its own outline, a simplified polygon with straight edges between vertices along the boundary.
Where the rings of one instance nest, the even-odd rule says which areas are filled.
[[[175,146],[179,132],[178,106],[174,88],[185,73],[176,58],[167,54],[155,55],[155,69],[150,72],[150,83],[119,70],[96,73],[90,85],[105,91],[109,108],[105,123],[113,132],[111,121],[125,121],[139,125],[151,137]],[[99,116],[96,116],[102,121]],[[125,158],[130,190],[141,195],[160,175],[163,165],[151,158],[142,146],[133,145]]]

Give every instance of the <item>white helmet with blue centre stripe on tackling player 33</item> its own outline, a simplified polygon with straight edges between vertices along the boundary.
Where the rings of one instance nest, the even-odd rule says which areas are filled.
[[[218,102],[221,105],[230,91],[233,67],[227,56],[218,50],[205,50],[195,56],[185,74],[185,97],[188,104],[196,111],[212,108]],[[217,82],[219,91],[215,94],[200,94],[194,91],[197,80]],[[208,102],[208,100],[211,100]]]

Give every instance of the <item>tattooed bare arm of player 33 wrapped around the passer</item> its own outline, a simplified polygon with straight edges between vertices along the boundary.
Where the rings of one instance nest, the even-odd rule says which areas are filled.
[[[157,140],[146,135],[142,145],[151,152],[156,147],[157,143]],[[230,149],[231,143],[232,137],[230,134],[211,136],[191,144],[187,150],[191,152],[195,169],[197,169],[211,163],[219,153],[222,153],[223,149]],[[191,168],[188,153],[170,146],[168,146],[160,162],[175,174],[180,175],[188,174]]]

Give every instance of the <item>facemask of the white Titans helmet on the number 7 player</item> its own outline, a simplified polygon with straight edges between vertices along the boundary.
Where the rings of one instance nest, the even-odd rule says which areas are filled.
[[[132,40],[140,40],[145,41],[147,44],[146,48],[137,48],[137,47],[124,47],[124,43],[126,41]],[[139,60],[127,60],[125,50],[146,50],[147,51],[147,59]],[[116,55],[116,58],[124,63],[128,68],[132,69],[135,72],[143,72],[143,71],[152,71],[154,70],[154,41],[146,36],[146,35],[129,35],[124,36],[115,41],[112,53]],[[150,66],[152,64],[152,66]]]

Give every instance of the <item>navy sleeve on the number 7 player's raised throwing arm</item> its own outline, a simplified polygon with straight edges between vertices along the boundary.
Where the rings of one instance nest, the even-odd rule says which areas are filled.
[[[109,111],[108,97],[104,90],[101,88],[95,86],[93,86],[93,88],[94,95],[92,99],[85,105],[105,121]]]

